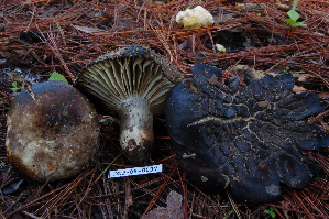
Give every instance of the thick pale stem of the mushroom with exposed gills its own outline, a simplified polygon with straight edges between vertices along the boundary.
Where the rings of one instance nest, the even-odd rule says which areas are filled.
[[[142,97],[129,97],[119,106],[118,112],[121,149],[135,165],[150,162],[154,134],[149,101]]]

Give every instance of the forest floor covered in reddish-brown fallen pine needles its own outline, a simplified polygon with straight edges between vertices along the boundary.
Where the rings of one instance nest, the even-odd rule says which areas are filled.
[[[215,19],[207,28],[184,29],[178,11],[202,6]],[[102,122],[94,165],[75,178],[39,183],[22,177],[6,155],[7,112],[12,88],[65,75],[74,84],[94,58],[122,45],[144,45],[191,76],[190,66],[207,63],[223,78],[248,68],[260,74],[290,72],[294,91],[315,91],[329,105],[329,2],[299,0],[298,22],[285,21],[293,0],[1,0],[0,3],[0,218],[141,218],[166,207],[167,195],[183,197],[183,218],[328,218],[329,151],[305,153],[320,174],[304,190],[283,186],[278,202],[248,206],[230,190],[205,194],[185,177],[163,117],[155,118],[156,164],[164,172],[108,179],[103,171],[121,153],[117,120]],[[226,52],[216,50],[216,44]],[[13,85],[17,83],[17,85]],[[328,112],[314,122],[329,131]],[[100,116],[106,121],[108,117]],[[132,167],[120,156],[110,169]],[[149,218],[152,218],[149,216]]]

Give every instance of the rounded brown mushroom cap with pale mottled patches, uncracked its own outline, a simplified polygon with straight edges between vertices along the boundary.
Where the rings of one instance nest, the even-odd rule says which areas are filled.
[[[45,81],[20,92],[8,112],[7,155],[23,175],[40,182],[73,177],[98,149],[91,103],[73,86]]]

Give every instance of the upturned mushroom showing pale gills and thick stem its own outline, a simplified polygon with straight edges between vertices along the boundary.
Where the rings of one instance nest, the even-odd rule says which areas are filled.
[[[98,109],[120,119],[120,145],[135,165],[150,162],[153,116],[164,113],[166,92],[182,80],[179,70],[143,46],[125,46],[98,57],[79,75],[76,87]]]

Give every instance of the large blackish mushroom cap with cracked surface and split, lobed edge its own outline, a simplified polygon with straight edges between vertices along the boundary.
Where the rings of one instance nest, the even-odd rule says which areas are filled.
[[[183,169],[207,191],[231,185],[233,197],[248,204],[279,199],[281,183],[301,189],[317,165],[300,150],[328,147],[329,135],[307,119],[326,109],[315,92],[293,94],[294,77],[282,73],[250,80],[221,69],[191,68],[193,83],[173,87],[165,103],[169,136]]]

